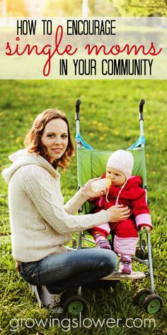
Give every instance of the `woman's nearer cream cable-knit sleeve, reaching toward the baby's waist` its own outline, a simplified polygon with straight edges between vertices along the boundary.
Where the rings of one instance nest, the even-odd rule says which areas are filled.
[[[42,167],[37,165],[24,167],[20,181],[42,218],[60,234],[89,229],[109,220],[108,212],[105,210],[88,215],[68,214],[62,205],[58,185],[55,187],[52,176]],[[72,202],[80,206],[85,196],[80,192],[77,193]]]

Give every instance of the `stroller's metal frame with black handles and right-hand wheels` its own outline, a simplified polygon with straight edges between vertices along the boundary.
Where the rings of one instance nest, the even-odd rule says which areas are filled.
[[[77,99],[76,100],[76,149],[78,150],[81,147],[84,147],[88,150],[93,150],[93,148],[91,148],[90,145],[88,145],[88,143],[86,143],[83,138],[80,135],[80,119],[79,119],[79,109],[80,109],[80,104],[81,104],[81,100]],[[140,136],[137,140],[136,143],[134,143],[133,145],[131,145],[128,150],[132,150],[133,148],[144,148],[144,143],[145,143],[145,138],[144,138],[144,113],[143,113],[143,108],[144,108],[144,104],[145,101],[144,99],[142,99],[139,102],[139,126],[140,126]],[[99,150],[99,154],[100,154],[100,150]],[[79,185],[79,180],[78,180],[78,189],[81,187],[81,185]],[[147,199],[147,186],[146,186],[146,180],[144,181],[144,190],[146,193],[146,202],[148,204],[148,199]],[[78,211],[79,215],[82,214],[82,208],[79,209]],[[143,256],[145,256],[145,250],[142,246],[142,236],[144,234],[144,232],[146,231],[146,229],[144,231],[142,231],[142,233],[139,233],[139,248],[143,254]],[[86,240],[88,242],[91,243],[95,243],[93,240],[91,240],[91,238],[85,237],[83,232],[79,232],[78,234],[78,248],[82,248],[82,240]],[[144,240],[145,241],[145,240]],[[113,273],[111,275],[109,275],[108,277],[102,278],[103,280],[121,280],[121,279],[142,279],[144,277],[146,277],[146,275],[149,275],[149,279],[150,279],[150,283],[151,283],[151,290],[149,289],[144,289],[141,290],[137,293],[137,295],[134,297],[134,304],[139,304],[139,302],[141,302],[141,297],[146,297],[146,295],[148,295],[146,297],[146,299],[144,300],[143,303],[143,307],[146,310],[146,312],[150,312],[150,313],[155,313],[158,312],[158,310],[161,308],[163,302],[161,300],[161,297],[159,295],[156,295],[154,292],[154,273],[153,273],[153,265],[152,265],[152,256],[151,256],[151,241],[150,241],[150,234],[146,234],[146,241],[147,241],[147,251],[148,251],[148,259],[141,259],[139,257],[133,256],[132,259],[137,260],[139,263],[142,263],[144,265],[149,266],[149,273],[139,273],[139,275],[135,275],[134,273],[132,273],[132,275],[125,275],[122,273]],[[76,248],[76,246],[75,246]],[[136,273],[137,274],[137,273]]]

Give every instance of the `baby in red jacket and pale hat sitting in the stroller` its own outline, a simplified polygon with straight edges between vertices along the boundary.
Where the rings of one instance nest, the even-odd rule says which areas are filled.
[[[129,219],[100,224],[91,229],[91,234],[97,243],[97,248],[110,249],[106,237],[111,233],[114,237],[114,251],[120,254],[120,272],[132,273],[132,255],[137,246],[137,230],[152,229],[149,208],[146,205],[145,191],[142,189],[142,179],[132,176],[134,158],[126,150],[117,150],[108,159],[106,172],[102,178],[110,178],[112,185],[106,196],[94,198],[95,212],[108,209],[115,204],[123,204],[131,209]]]

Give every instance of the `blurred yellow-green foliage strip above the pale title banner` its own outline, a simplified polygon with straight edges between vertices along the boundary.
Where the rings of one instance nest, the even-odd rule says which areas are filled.
[[[167,0],[0,0],[0,16],[167,16]]]

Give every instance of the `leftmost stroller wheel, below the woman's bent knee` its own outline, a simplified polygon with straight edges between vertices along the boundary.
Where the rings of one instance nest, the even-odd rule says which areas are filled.
[[[69,297],[63,305],[64,313],[69,312],[73,315],[78,315],[86,309],[87,302],[81,295]]]

